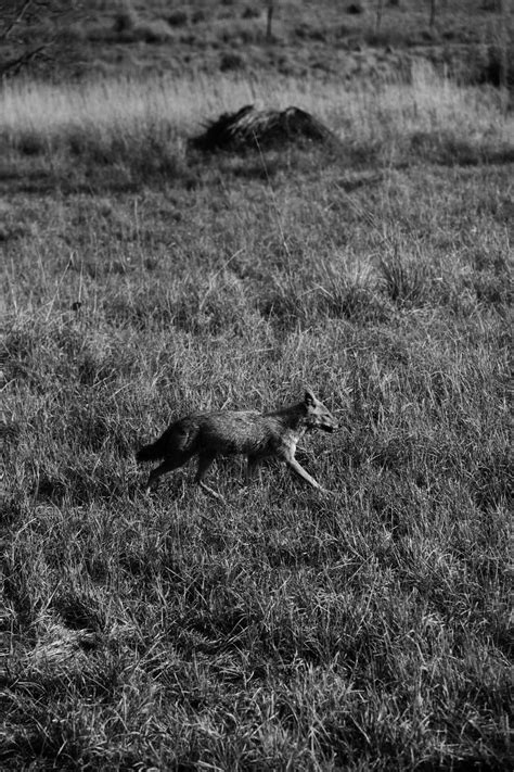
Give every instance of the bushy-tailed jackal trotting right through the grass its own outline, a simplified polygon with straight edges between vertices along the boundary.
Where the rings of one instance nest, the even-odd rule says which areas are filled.
[[[195,482],[216,498],[221,498],[204,483],[204,477],[215,458],[244,454],[247,457],[246,477],[261,458],[284,460],[287,466],[312,488],[324,491],[295,458],[298,440],[311,429],[334,431],[337,421],[326,407],[307,390],[303,402],[273,413],[255,410],[220,410],[185,416],[171,423],[151,445],[143,445],[138,461],[163,459],[150,473],[147,488],[172,469],[178,469],[193,456],[198,456]],[[326,491],[325,491],[326,492]]]

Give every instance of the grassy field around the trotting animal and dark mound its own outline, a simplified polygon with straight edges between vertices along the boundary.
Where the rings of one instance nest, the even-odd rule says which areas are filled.
[[[296,104],[339,149],[202,156]],[[514,119],[428,66],[0,91],[2,769],[504,770]],[[337,415],[142,490],[188,412]]]

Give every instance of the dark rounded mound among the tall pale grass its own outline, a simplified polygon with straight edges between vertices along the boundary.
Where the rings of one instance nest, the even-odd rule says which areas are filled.
[[[317,118],[299,107],[256,110],[247,104],[235,113],[223,113],[206,124],[190,145],[204,152],[268,149],[290,143],[338,144],[337,137]]]

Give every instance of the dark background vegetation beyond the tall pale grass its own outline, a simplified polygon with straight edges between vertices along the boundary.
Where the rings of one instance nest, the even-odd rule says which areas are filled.
[[[0,76],[23,64],[52,80],[269,72],[355,81],[408,77],[428,60],[465,83],[512,86],[513,31],[507,0],[0,0]]]

